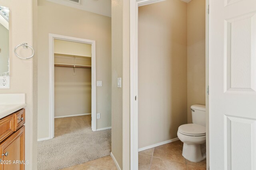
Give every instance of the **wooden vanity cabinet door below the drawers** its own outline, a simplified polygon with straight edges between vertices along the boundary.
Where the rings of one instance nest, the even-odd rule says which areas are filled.
[[[24,170],[24,140],[25,127],[23,126],[0,143],[0,156],[2,157],[1,163],[3,163],[0,166],[0,170]],[[19,160],[20,162],[16,163],[16,161]]]

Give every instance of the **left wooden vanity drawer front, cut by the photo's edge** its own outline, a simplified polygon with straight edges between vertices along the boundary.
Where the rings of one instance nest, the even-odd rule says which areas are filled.
[[[14,132],[13,115],[0,119],[0,142]]]

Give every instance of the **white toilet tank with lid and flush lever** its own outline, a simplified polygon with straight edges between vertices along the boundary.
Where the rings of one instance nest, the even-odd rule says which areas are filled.
[[[196,104],[196,105],[192,105],[190,108],[192,112],[192,123],[205,126],[205,123],[206,123],[205,106]]]

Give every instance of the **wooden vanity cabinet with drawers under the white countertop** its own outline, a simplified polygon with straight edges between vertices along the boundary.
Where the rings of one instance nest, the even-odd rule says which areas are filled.
[[[25,109],[21,109],[0,119],[0,128],[2,120],[7,122],[2,127],[5,127],[5,129],[9,127],[7,132],[10,133],[10,129],[12,129],[12,133],[6,137],[4,135],[6,132],[2,133],[0,130],[0,139],[5,137],[0,143],[0,170],[24,170],[26,163]]]

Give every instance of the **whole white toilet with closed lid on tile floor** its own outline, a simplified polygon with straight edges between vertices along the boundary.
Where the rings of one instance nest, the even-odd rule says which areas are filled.
[[[200,146],[206,143],[205,106],[193,105],[191,111],[192,123],[180,125],[177,135],[183,142],[182,156],[190,162],[200,162],[206,158]]]

